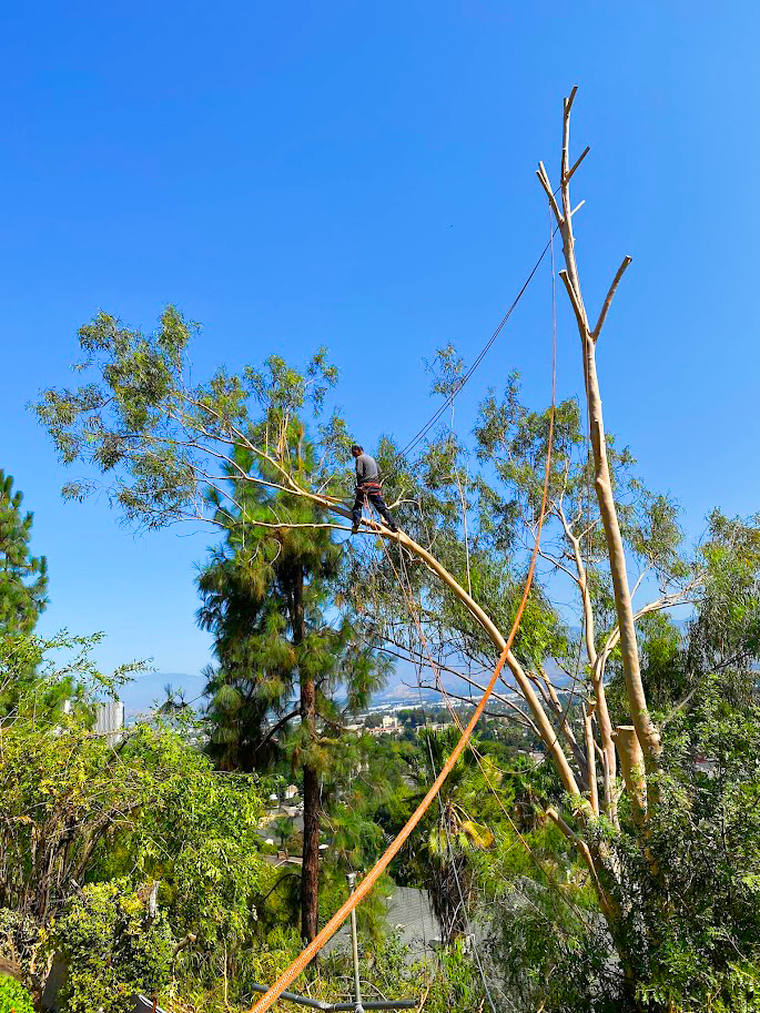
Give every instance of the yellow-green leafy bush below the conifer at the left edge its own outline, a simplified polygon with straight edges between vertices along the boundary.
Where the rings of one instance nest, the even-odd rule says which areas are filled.
[[[18,638],[11,646],[18,652]],[[83,640],[75,663],[60,669],[53,652],[0,722],[0,910],[13,914],[9,942],[38,989],[49,970],[39,958],[44,934],[84,883],[158,883],[178,938],[213,946],[250,939],[253,899],[270,875],[251,776],[220,774],[161,725],[138,726],[116,746],[92,735],[87,698],[110,680],[98,676],[90,647]],[[39,644],[28,654],[39,659]],[[72,668],[82,705],[69,715],[40,707]]]

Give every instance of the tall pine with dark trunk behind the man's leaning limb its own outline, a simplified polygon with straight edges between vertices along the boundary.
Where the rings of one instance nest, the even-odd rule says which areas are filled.
[[[287,430],[307,480],[312,448],[297,423]],[[236,464],[245,473],[261,468],[242,453]],[[252,523],[271,523],[274,513],[283,523],[310,525],[322,519],[317,508],[281,489],[230,482],[237,507],[217,502],[226,533],[199,578],[199,621],[214,635],[219,662],[207,685],[210,750],[223,768],[263,769],[287,736],[303,774],[301,929],[311,941],[318,922],[322,774],[341,752],[343,719],[367,705],[383,667],[355,617],[335,608],[343,557],[330,529]]]

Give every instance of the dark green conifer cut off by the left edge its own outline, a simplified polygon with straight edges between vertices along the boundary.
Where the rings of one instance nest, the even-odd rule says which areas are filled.
[[[48,563],[29,548],[33,516],[21,511],[23,495],[0,469],[0,631],[30,634],[48,599]]]

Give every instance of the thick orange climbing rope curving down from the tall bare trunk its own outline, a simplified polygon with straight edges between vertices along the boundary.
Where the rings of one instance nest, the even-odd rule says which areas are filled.
[[[314,936],[314,939],[311,941],[311,943],[308,943],[308,945],[303,950],[303,952],[298,956],[296,956],[296,959],[293,961],[293,963],[290,965],[290,968],[287,968],[287,970],[284,971],[280,975],[280,977],[272,985],[272,987],[268,990],[268,992],[266,992],[264,995],[262,995],[262,997],[259,1000],[259,1002],[255,1003],[251,1007],[249,1013],[266,1013],[266,1010],[270,1010],[273,1006],[273,1004],[280,999],[280,996],[288,987],[288,985],[293,984],[295,979],[301,974],[301,972],[306,968],[306,965],[311,963],[311,961],[316,956],[316,954],[325,945],[325,943],[330,939],[332,939],[332,936],[337,932],[337,930],[341,928],[341,925],[346,920],[346,918],[348,918],[348,915],[354,910],[354,908],[356,908],[356,905],[359,904],[364,900],[364,898],[369,893],[369,891],[373,889],[373,887],[375,885],[377,880],[381,878],[381,875],[383,875],[383,873],[388,868],[391,862],[394,860],[394,858],[398,854],[401,849],[404,847],[404,844],[408,840],[409,835],[412,834],[412,831],[415,829],[417,823],[425,816],[425,812],[427,811],[430,802],[433,801],[433,799],[436,797],[436,794],[440,790],[440,786],[444,783],[444,781],[450,773],[452,768],[454,767],[454,764],[456,763],[458,758],[462,756],[464,749],[466,748],[467,743],[469,742],[470,736],[473,735],[473,731],[475,730],[475,726],[479,721],[480,715],[485,710],[486,703],[488,702],[488,698],[490,697],[493,689],[496,686],[496,680],[498,679],[498,677],[501,672],[501,669],[505,666],[505,662],[507,660],[507,655],[509,654],[509,650],[511,649],[511,645],[515,640],[515,636],[517,634],[517,630],[519,629],[520,620],[523,618],[523,612],[525,611],[525,606],[528,601],[528,595],[530,594],[530,586],[533,584],[534,571],[536,568],[536,558],[538,556],[538,549],[539,549],[540,538],[541,538],[541,529],[544,527],[544,515],[546,514],[546,503],[547,503],[547,497],[548,497],[548,492],[549,492],[549,475],[550,475],[550,469],[551,469],[551,448],[553,448],[553,443],[554,443],[554,416],[555,416],[556,387],[557,387],[557,342],[556,342],[556,333],[555,333],[555,334],[553,334],[553,342],[551,342],[551,412],[549,415],[549,438],[548,438],[547,453],[546,453],[546,470],[545,470],[545,475],[544,475],[544,492],[543,492],[543,496],[541,496],[541,509],[540,509],[540,514],[538,516],[538,524],[536,526],[536,540],[534,544],[533,555],[530,557],[530,566],[528,568],[528,575],[527,575],[526,581],[525,581],[525,589],[523,590],[523,597],[520,599],[520,604],[517,609],[517,615],[515,616],[515,621],[513,622],[511,629],[509,630],[509,636],[507,637],[507,642],[504,645],[504,649],[501,650],[501,654],[499,655],[499,659],[496,662],[496,668],[494,669],[494,673],[490,677],[490,680],[488,681],[488,685],[486,686],[486,689],[485,689],[483,696],[480,697],[480,701],[477,705],[477,707],[475,708],[475,710],[473,711],[473,716],[470,717],[469,721],[467,722],[467,727],[463,731],[462,738],[459,739],[457,744],[454,747],[454,750],[452,751],[452,754],[449,756],[449,758],[446,760],[444,766],[440,768],[440,772],[438,773],[437,778],[435,779],[433,784],[430,784],[430,788],[429,788],[427,794],[422,800],[422,802],[417,806],[415,811],[412,813],[412,816],[409,817],[409,819],[407,820],[405,825],[399,831],[396,839],[388,844],[384,854],[378,859],[378,861],[374,865],[374,868],[369,870],[369,872],[365,875],[365,878],[362,880],[359,885],[354,890],[354,892],[348,896],[348,899],[345,901],[345,903],[343,903],[341,905],[341,908],[338,908],[338,910],[330,919],[330,921],[324,926],[324,929],[322,929],[322,931],[318,932],[317,935]]]

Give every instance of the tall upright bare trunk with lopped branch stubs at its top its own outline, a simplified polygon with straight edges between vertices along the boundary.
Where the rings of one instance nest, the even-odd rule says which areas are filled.
[[[560,194],[561,209],[559,207],[555,195],[551,191],[548,175],[543,163],[539,163],[538,178],[546,191],[551,204],[551,209],[557,219],[559,231],[563,236],[563,249],[565,253],[566,271],[560,272],[565,287],[567,288],[572,304],[572,311],[578,324],[580,335],[584,373],[586,383],[586,397],[588,403],[589,426],[591,430],[591,447],[594,450],[595,482],[594,486],[599,503],[599,513],[605,529],[607,550],[609,555],[609,567],[612,577],[612,589],[615,594],[615,607],[618,616],[620,628],[620,654],[622,657],[622,670],[626,679],[626,690],[631,709],[631,719],[636,728],[636,735],[641,744],[645,763],[647,769],[657,766],[660,754],[660,737],[655,727],[647,707],[647,699],[641,682],[641,672],[639,669],[639,654],[636,639],[636,627],[634,624],[634,607],[631,602],[630,590],[628,586],[628,573],[626,568],[626,553],[620,534],[620,524],[618,521],[615,497],[612,495],[612,483],[609,472],[609,462],[607,459],[607,444],[605,437],[605,424],[601,413],[601,395],[599,393],[599,382],[596,369],[596,342],[604,326],[607,312],[615,296],[618,283],[622,273],[630,264],[630,257],[626,257],[620,265],[618,273],[610,285],[607,297],[601,307],[599,318],[594,330],[589,326],[588,315],[584,305],[584,297],[580,288],[578,276],[578,265],[575,256],[575,236],[572,234],[572,206],[570,203],[570,179],[580,162],[586,156],[588,149],[584,151],[578,161],[570,168],[569,162],[569,136],[570,136],[570,109],[575,99],[576,89],[572,89],[569,99],[565,100],[564,105],[564,131],[563,131],[563,156],[560,170]]]

